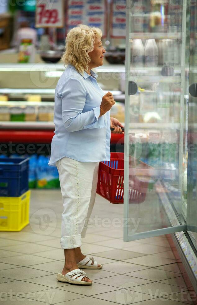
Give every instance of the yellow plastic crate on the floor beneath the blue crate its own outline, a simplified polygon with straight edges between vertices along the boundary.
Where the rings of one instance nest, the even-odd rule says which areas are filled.
[[[20,197],[0,197],[0,231],[21,231],[29,222],[30,190]]]

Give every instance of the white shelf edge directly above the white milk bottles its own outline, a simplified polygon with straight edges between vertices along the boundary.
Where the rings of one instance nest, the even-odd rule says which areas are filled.
[[[132,39],[181,39],[181,32],[174,33],[130,33]]]

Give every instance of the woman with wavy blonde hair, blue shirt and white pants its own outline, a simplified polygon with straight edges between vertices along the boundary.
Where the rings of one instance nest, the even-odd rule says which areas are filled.
[[[67,68],[55,89],[55,135],[49,165],[57,166],[63,198],[60,244],[65,265],[57,280],[91,285],[80,268],[100,269],[93,257],[81,253],[92,212],[99,162],[110,160],[110,127],[123,133],[121,123],[110,118],[115,104],[110,92],[104,95],[92,68],[103,65],[105,49],[99,28],[79,25],[66,36],[62,60]]]

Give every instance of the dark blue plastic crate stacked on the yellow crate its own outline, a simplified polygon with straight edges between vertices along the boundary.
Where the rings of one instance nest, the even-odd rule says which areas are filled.
[[[29,190],[29,158],[0,159],[0,196],[19,197]]]

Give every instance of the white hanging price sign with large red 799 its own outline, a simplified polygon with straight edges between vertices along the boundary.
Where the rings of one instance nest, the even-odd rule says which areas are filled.
[[[63,0],[37,0],[35,27],[63,27]]]

